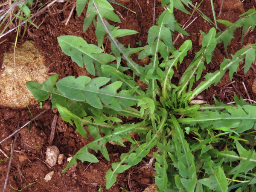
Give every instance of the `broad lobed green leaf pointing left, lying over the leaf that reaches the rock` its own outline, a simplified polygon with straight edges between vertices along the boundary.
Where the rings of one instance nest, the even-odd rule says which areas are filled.
[[[91,106],[98,109],[103,108],[103,102],[108,108],[122,111],[122,107],[117,98],[139,101],[139,99],[131,96],[131,94],[123,96],[123,92],[116,93],[122,85],[122,82],[120,81],[102,87],[108,83],[109,80],[110,79],[106,77],[98,77],[90,80],[89,77],[85,76],[78,77],[77,79],[69,76],[58,81],[56,86],[67,98],[78,101],[87,101]],[[134,102],[132,102],[132,104],[134,104]]]

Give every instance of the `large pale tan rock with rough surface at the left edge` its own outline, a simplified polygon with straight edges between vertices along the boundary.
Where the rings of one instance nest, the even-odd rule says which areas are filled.
[[[27,81],[43,83],[48,78],[44,58],[32,41],[26,41],[15,50],[14,46],[3,56],[0,64],[0,107],[13,109],[37,105],[34,96],[26,87]]]

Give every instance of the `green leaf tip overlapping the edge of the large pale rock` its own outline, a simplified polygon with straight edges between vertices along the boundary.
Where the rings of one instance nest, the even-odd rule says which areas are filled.
[[[58,74],[55,74],[53,76],[49,76],[43,84],[40,84],[37,81],[28,81],[26,82],[26,86],[37,102],[41,102],[49,98],[49,95],[54,90],[53,85],[56,83],[57,79]]]

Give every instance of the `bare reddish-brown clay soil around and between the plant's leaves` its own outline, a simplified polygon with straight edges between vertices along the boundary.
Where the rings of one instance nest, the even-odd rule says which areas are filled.
[[[200,3],[201,0],[192,0],[193,3]],[[135,11],[137,14],[129,12],[120,6],[113,5],[119,17],[121,17],[122,23],[116,24],[120,26],[121,29],[134,29],[139,33],[129,37],[120,38],[122,44],[131,47],[137,47],[136,42],[141,41],[142,46],[147,44],[147,31],[153,25],[153,0],[119,0],[119,3],[124,4],[129,9]],[[227,5],[233,5],[233,0],[226,0]],[[46,3],[46,1],[44,1]],[[91,25],[90,28],[83,32],[82,25],[84,21],[84,15],[86,11],[82,13],[80,17],[77,17],[76,11],[71,15],[71,18],[67,25],[65,25],[65,19],[70,15],[70,11],[73,4],[76,3],[74,0],[70,0],[67,3],[55,3],[50,9],[47,9],[44,14],[38,17],[34,22],[41,26],[39,29],[35,30],[32,26],[26,32],[25,38],[22,42],[26,40],[32,40],[35,46],[41,51],[46,60],[46,67],[49,68],[49,73],[58,73],[59,78],[65,76],[82,76],[88,75],[85,70],[81,70],[76,63],[72,62],[70,57],[65,55],[58,45],[57,37],[61,35],[76,35],[84,38],[88,44],[96,44],[96,37],[94,34],[94,26]],[[221,0],[215,0],[214,6],[216,15],[218,15],[220,10]],[[243,6],[224,6],[221,12],[221,16],[217,19],[229,20],[234,22],[239,19],[239,15],[243,11],[255,8],[255,0],[244,0]],[[139,5],[142,9],[143,14],[141,14]],[[200,6],[200,10],[204,12],[207,17],[213,20],[212,10],[210,8],[210,0],[204,0]],[[189,10],[189,9],[188,9]],[[156,18],[163,12],[163,8],[160,2],[157,1],[155,15]],[[189,12],[192,12],[189,10]],[[175,18],[177,22],[183,25],[189,19],[189,15],[183,12],[175,10]],[[175,47],[180,47],[180,45],[186,40],[191,39],[193,43],[192,49],[189,54],[184,59],[183,63],[178,65],[177,71],[175,72],[175,78],[173,82],[177,82],[186,67],[194,58],[195,52],[200,49],[200,31],[208,32],[212,27],[209,23],[195,13],[191,20],[197,17],[197,19],[186,29],[190,36],[184,36],[184,38],[179,38],[175,43]],[[190,20],[190,21],[191,21]],[[224,26],[219,25],[221,29]],[[0,66],[2,62],[3,53],[9,50],[11,43],[15,42],[16,33],[12,32],[0,39],[3,41],[7,39],[4,43],[0,44]],[[256,30],[250,32],[244,40],[243,45],[248,43],[256,43]],[[175,36],[173,36],[173,40]],[[18,40],[19,41],[19,40]],[[21,41],[21,40],[20,40]],[[110,52],[109,42],[104,42],[107,52]],[[241,49],[241,29],[236,30],[235,38],[233,39],[230,46],[228,46],[229,54],[234,54],[236,51]],[[219,63],[223,61],[225,54],[223,45],[218,45],[216,51],[214,52],[215,57],[213,57],[212,64],[207,66],[206,72],[213,72],[219,69]],[[140,62],[133,57],[134,61]],[[207,100],[210,104],[213,103],[213,95],[222,101],[230,102],[233,101],[233,93],[236,93],[243,98],[247,98],[247,94],[244,90],[242,82],[244,81],[251,99],[255,100],[255,96],[251,91],[251,86],[253,79],[256,78],[256,71],[252,67],[247,74],[244,75],[243,70],[235,74],[233,77],[232,85],[230,88],[226,88],[226,84],[230,82],[228,76],[224,76],[221,83],[215,87],[210,87],[209,90],[201,93],[204,100]],[[199,84],[200,80],[197,82]],[[121,191],[143,191],[147,186],[154,183],[154,169],[143,169],[138,170],[137,166],[133,166],[128,169],[125,173],[119,174],[116,183],[111,187],[111,189],[106,190],[105,188],[105,173],[111,168],[111,163],[119,161],[120,154],[127,152],[129,149],[129,143],[126,143],[127,147],[121,147],[118,145],[108,144],[108,152],[110,154],[111,162],[104,159],[102,154],[96,154],[99,159],[99,163],[79,163],[76,166],[71,167],[64,174],[61,174],[62,170],[67,165],[67,158],[73,156],[76,151],[78,151],[85,144],[92,141],[92,138],[85,140],[79,134],[75,133],[76,128],[67,122],[64,122],[56,110],[50,109],[50,102],[44,102],[44,109],[47,111],[39,116],[35,122],[30,124],[30,131],[28,127],[23,128],[17,136],[17,141],[15,145],[14,157],[12,160],[11,171],[8,178],[8,184],[6,191],[15,191],[11,189],[10,186],[21,189],[22,187],[38,181],[25,189],[23,191],[32,192],[98,192],[99,188],[102,187],[102,191],[109,192],[121,192]],[[34,116],[41,113],[44,109],[40,109],[38,106],[30,106],[30,110]],[[61,165],[56,165],[49,168],[43,161],[45,161],[45,152],[47,146],[49,145],[51,125],[53,117],[58,115],[57,121],[57,131],[52,145],[56,145],[60,152],[64,154],[64,163]],[[0,108],[0,140],[9,136],[18,127],[24,125],[32,119],[28,109],[12,110],[9,108]],[[12,148],[13,139],[9,138],[5,142],[0,144],[0,148],[10,156],[10,151]],[[6,157],[0,153],[0,160],[4,160]],[[149,159],[145,158],[144,163]],[[8,167],[9,160],[0,161],[0,189],[3,189],[3,183],[6,178],[6,171]],[[143,165],[143,162],[138,166]],[[46,182],[44,177],[47,173],[54,171],[52,180]]]

